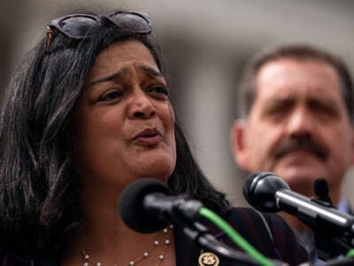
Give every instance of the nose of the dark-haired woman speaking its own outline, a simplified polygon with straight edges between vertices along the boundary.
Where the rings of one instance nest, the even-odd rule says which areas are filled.
[[[156,114],[155,106],[144,91],[135,91],[131,95],[128,117],[130,119],[149,119]]]

